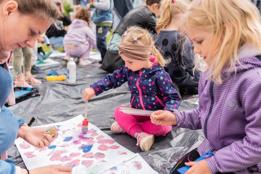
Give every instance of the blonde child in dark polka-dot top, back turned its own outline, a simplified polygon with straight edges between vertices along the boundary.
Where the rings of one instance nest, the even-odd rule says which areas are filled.
[[[199,72],[195,71],[193,75],[193,46],[179,27],[181,17],[189,9],[189,2],[163,0],[160,8],[164,15],[161,15],[156,25],[155,41],[162,48],[165,57],[171,57],[171,62],[165,70],[178,86],[180,95],[198,94]]]

